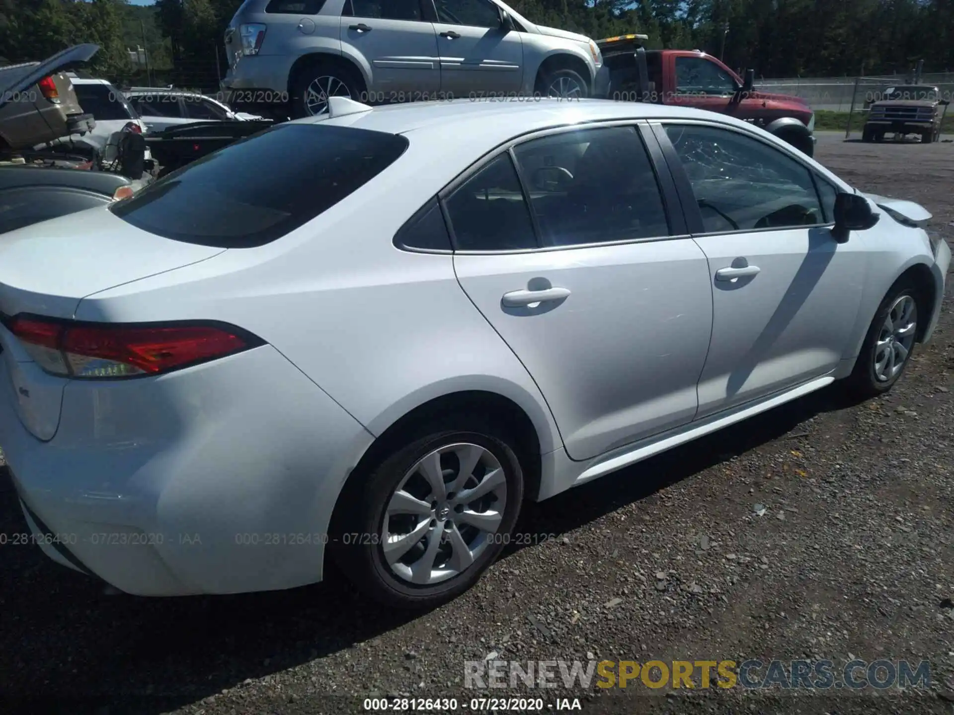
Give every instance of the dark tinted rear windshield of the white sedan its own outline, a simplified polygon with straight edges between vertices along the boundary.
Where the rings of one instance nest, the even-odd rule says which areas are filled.
[[[406,148],[398,134],[282,124],[150,184],[113,213],[187,243],[262,246],[360,189]]]

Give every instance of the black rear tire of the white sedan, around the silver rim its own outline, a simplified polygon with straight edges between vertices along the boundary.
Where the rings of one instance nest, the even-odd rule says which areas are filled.
[[[370,598],[388,607],[425,610],[446,603],[466,591],[480,579],[490,564],[500,555],[520,513],[524,476],[516,451],[508,445],[508,438],[497,434],[497,430],[490,426],[488,419],[447,415],[440,421],[430,422],[416,430],[404,442],[405,446],[396,448],[389,456],[384,457],[377,467],[369,470],[366,478],[356,475],[357,481],[346,485],[342,492],[342,503],[336,508],[335,518],[332,520],[329,550],[342,573]],[[385,510],[395,490],[405,479],[406,483],[402,491],[413,494],[416,499],[430,501],[433,494],[424,496],[421,492],[412,491],[412,483],[414,487],[427,485],[421,481],[412,482],[412,480],[424,478],[421,472],[411,472],[411,470],[419,460],[424,459],[435,449],[461,442],[486,450],[499,463],[504,473],[506,499],[500,525],[492,537],[485,538],[483,550],[473,559],[473,562],[457,575],[446,581],[432,584],[409,582],[395,573],[386,560],[383,536]],[[451,480],[454,478],[454,464],[460,463],[460,460],[456,462],[454,460],[457,458],[447,457],[441,460],[443,478],[446,483],[450,483],[447,481],[448,477]],[[474,472],[475,475],[481,469],[487,468],[478,467]],[[490,470],[487,469],[486,474],[489,473]],[[408,474],[412,475],[409,479],[406,477]],[[468,480],[467,483],[479,482]],[[463,488],[461,491],[464,491]],[[451,496],[448,494],[448,498]],[[435,528],[437,519],[443,516],[447,519],[445,524],[448,524],[454,520],[454,514],[459,513],[461,508],[456,507],[449,514],[439,511],[440,507],[438,510],[432,509],[431,513],[436,517],[433,519],[426,515],[410,515],[407,519],[416,520],[417,525],[407,525],[404,527],[406,530],[396,527],[398,533],[404,534],[417,531],[425,525],[425,521],[429,524],[426,526],[427,531],[422,532],[421,538],[407,550],[404,557],[398,560],[399,567],[409,567],[410,564],[408,566],[400,564],[403,559],[407,559],[411,564],[416,563],[415,556],[425,559],[421,552],[426,550],[426,546],[431,543],[431,538],[450,534],[449,531],[441,530],[439,526]],[[458,523],[462,524],[462,521]],[[451,528],[457,527],[455,525]],[[456,533],[467,533],[467,528],[467,524],[462,524],[460,531]],[[438,539],[442,544],[440,548],[446,547],[446,553],[450,553],[449,542],[445,542],[442,536],[438,536]],[[475,541],[471,541],[473,542]],[[439,563],[441,558],[442,555],[439,554],[437,561],[433,563]],[[433,573],[432,570],[428,572]]]

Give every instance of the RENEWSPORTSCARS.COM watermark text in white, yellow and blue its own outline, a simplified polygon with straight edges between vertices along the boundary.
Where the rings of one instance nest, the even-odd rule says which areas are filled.
[[[927,661],[466,661],[468,688],[641,687],[861,690],[931,686]]]

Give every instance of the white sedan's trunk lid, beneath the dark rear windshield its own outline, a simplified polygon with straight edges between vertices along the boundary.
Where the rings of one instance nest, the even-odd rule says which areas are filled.
[[[91,209],[0,235],[0,314],[72,319],[79,301],[107,288],[175,270],[225,249],[174,241]],[[0,325],[0,393],[38,439],[59,425],[63,388]]]

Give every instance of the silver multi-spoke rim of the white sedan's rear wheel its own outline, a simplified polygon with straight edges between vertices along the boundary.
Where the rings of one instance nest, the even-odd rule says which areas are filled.
[[[507,478],[478,444],[447,444],[412,466],[384,510],[384,562],[404,582],[438,583],[463,573],[494,542]]]

